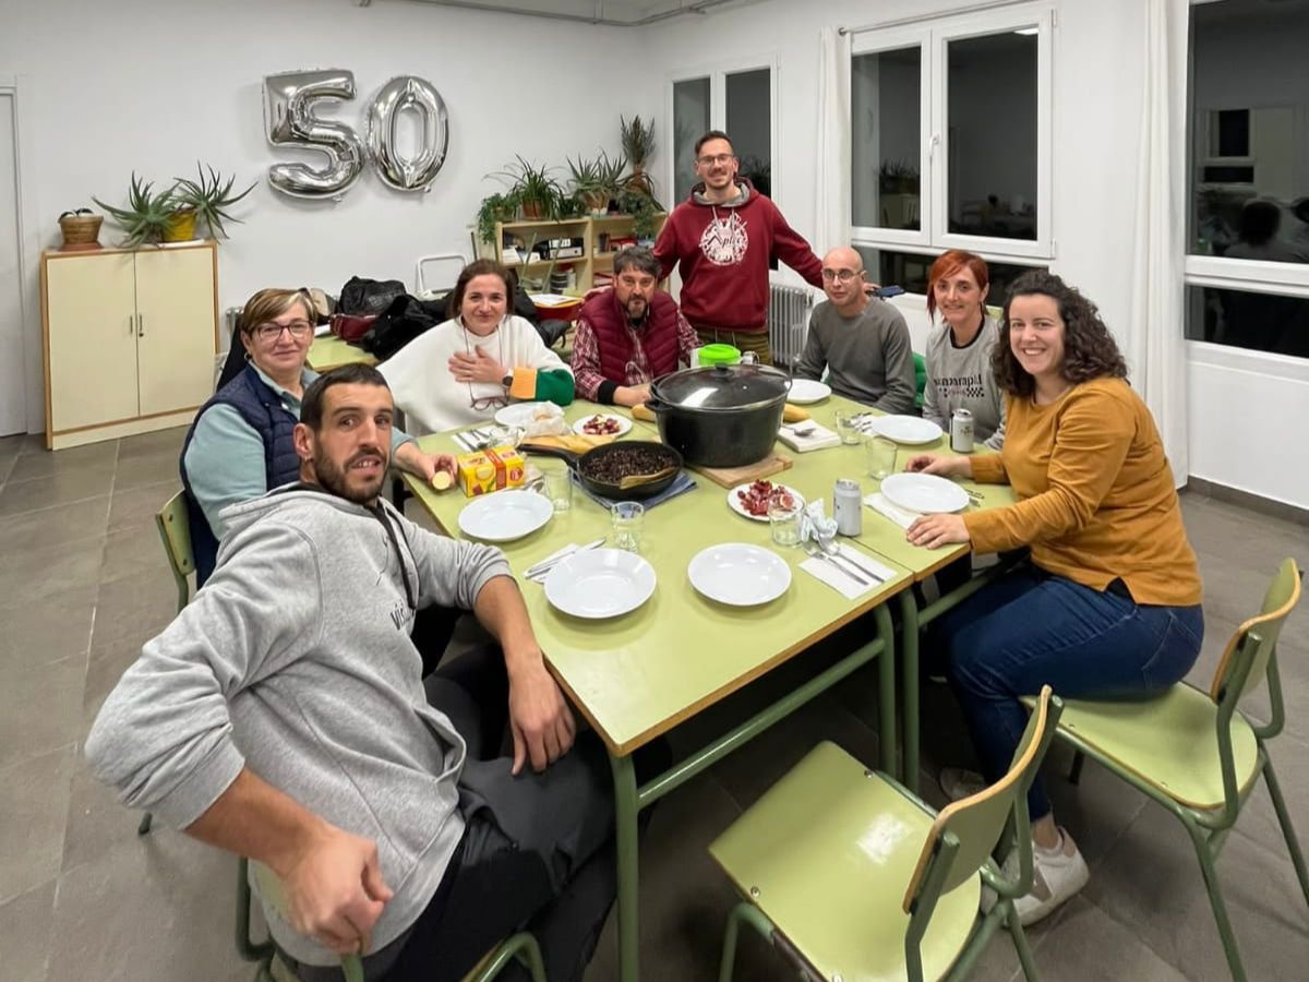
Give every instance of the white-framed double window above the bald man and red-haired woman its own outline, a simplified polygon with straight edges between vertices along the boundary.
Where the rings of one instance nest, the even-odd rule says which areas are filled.
[[[857,244],[1051,257],[1050,27],[1031,4],[855,37]]]

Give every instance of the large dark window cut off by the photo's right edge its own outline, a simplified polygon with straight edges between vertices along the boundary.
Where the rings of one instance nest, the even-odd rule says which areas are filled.
[[[1186,336],[1309,356],[1309,4],[1191,7]]]

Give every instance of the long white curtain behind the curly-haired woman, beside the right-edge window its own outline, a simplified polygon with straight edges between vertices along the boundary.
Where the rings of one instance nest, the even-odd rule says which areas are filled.
[[[1127,365],[1164,440],[1178,487],[1187,475],[1186,45],[1189,0],[1143,0],[1145,77]]]

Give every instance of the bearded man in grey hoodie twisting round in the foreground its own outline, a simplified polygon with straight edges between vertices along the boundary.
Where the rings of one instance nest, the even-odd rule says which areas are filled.
[[[572,746],[501,553],[378,498],[393,415],[372,368],[309,388],[300,483],[224,511],[213,576],[123,674],[86,757],[126,804],[272,869],[285,917],[264,915],[304,979],[339,978],[348,952],[369,979],[457,979],[525,922],[550,977],[576,979],[614,893],[603,749]],[[424,693],[410,630],[429,604],[471,609],[503,663],[456,659]]]

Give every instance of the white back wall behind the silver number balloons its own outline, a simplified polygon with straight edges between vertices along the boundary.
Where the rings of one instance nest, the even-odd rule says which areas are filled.
[[[407,3],[0,0],[0,65],[18,80],[24,213],[35,225],[30,347],[39,351],[38,253],[59,242],[55,216],[92,195],[122,202],[132,170],[168,183],[202,160],[259,181],[237,207],[245,224],[220,247],[224,308],[267,285],[335,293],[352,274],[412,283],[419,255],[469,251],[465,229],[497,190],[483,175],[514,153],[560,166],[597,145],[614,153],[620,113],[661,110],[657,86],[623,81],[639,43],[624,29]],[[437,88],[450,148],[431,194],[391,191],[372,168],[339,204],[268,187],[268,165],[296,155],[267,144],[263,76],[326,67],[355,73],[357,96],[335,115],[360,135],[387,79],[416,75]],[[107,223],[101,241],[118,241]],[[33,365],[29,427],[39,429],[39,355]]]

